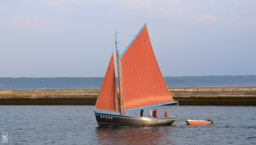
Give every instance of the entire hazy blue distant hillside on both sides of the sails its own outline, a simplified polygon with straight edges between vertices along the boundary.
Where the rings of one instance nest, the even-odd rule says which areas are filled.
[[[0,90],[100,88],[104,78],[0,78]],[[164,77],[168,87],[256,86],[256,75]]]

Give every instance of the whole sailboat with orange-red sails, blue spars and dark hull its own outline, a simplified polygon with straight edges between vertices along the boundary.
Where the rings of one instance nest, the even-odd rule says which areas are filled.
[[[114,50],[94,108],[99,126],[173,125],[180,119],[178,102],[166,86],[157,64],[146,23],[120,54],[116,32],[117,88]],[[117,91],[119,90],[119,91]],[[172,105],[168,105],[172,104]],[[130,116],[129,111],[142,108],[177,105],[177,115],[168,117]],[[160,114],[161,116],[161,114]]]

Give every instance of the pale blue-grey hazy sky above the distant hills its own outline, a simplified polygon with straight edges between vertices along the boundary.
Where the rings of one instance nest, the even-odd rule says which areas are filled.
[[[144,23],[164,77],[256,75],[255,0],[1,0],[0,77],[104,77]]]

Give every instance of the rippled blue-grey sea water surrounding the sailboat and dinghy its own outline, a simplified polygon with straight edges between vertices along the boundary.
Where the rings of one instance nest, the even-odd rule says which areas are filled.
[[[157,107],[160,115],[166,108],[171,107]],[[0,133],[8,132],[9,144],[256,144],[256,107],[180,106],[176,125],[157,127],[98,127],[93,109],[0,106]],[[185,122],[209,117],[215,124]]]

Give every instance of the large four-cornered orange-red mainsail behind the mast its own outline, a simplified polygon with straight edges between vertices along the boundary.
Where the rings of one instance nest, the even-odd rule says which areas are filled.
[[[146,25],[122,54],[121,73],[125,110],[173,101],[157,64]]]

